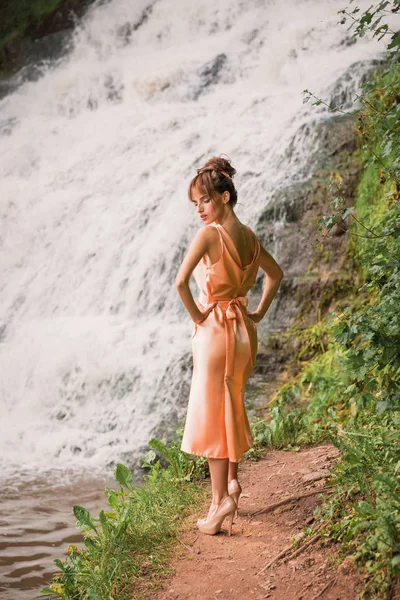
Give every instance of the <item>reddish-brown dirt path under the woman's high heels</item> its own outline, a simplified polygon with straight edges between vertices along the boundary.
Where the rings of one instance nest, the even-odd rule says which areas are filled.
[[[266,565],[301,529],[313,521],[320,494],[259,513],[268,505],[321,489],[338,451],[331,445],[300,452],[268,451],[257,463],[243,465],[243,495],[232,536],[193,528],[182,536],[173,562],[175,574],[154,600],[353,600],[361,580],[352,564],[334,566],[335,547],[311,544],[298,556]],[[204,507],[204,512],[208,505]],[[326,588],[326,589],[324,589]]]

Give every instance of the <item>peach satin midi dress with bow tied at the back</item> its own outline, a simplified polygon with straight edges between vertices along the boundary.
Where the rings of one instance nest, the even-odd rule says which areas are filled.
[[[247,315],[249,289],[256,281],[260,242],[250,264],[242,267],[229,233],[212,223],[221,255],[208,267],[203,256],[193,275],[200,289],[197,305],[217,301],[192,333],[193,376],[181,449],[207,458],[239,462],[253,443],[244,406],[244,387],[257,354],[257,326]]]

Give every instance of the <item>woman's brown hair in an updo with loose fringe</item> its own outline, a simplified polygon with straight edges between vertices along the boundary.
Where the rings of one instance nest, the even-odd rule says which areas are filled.
[[[229,192],[229,204],[233,208],[237,202],[237,191],[232,181],[235,173],[236,169],[232,167],[229,160],[213,156],[204,167],[197,169],[197,175],[189,184],[189,200],[194,202],[192,193],[195,188],[204,190],[214,202],[217,199],[216,193]]]

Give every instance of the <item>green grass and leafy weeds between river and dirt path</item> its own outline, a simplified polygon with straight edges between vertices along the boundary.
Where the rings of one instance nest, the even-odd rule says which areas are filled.
[[[134,486],[130,469],[118,464],[114,475],[120,489],[106,489],[110,508],[97,518],[74,506],[84,547],[71,545],[66,560],[54,561],[61,572],[42,593],[64,600],[131,600],[140,595],[136,588],[143,588],[144,574],[149,579],[165,573],[183,518],[204,496],[194,483],[204,476],[203,469],[184,456],[178,443],[151,440],[169,465],[163,468],[151,450],[141,485]]]

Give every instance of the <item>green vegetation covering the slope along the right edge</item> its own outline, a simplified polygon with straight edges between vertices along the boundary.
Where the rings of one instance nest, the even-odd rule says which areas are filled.
[[[359,33],[377,16],[367,11],[356,19],[355,12]],[[333,213],[320,219],[328,232],[349,231],[359,289],[329,318],[286,332],[300,333],[299,357],[312,358],[255,425],[259,448],[322,440],[339,448],[335,493],[320,517],[343,557],[366,569],[364,593],[380,599],[390,597],[400,574],[400,36],[385,31],[388,60],[365,85],[357,111],[364,169],[355,205],[333,173]]]

